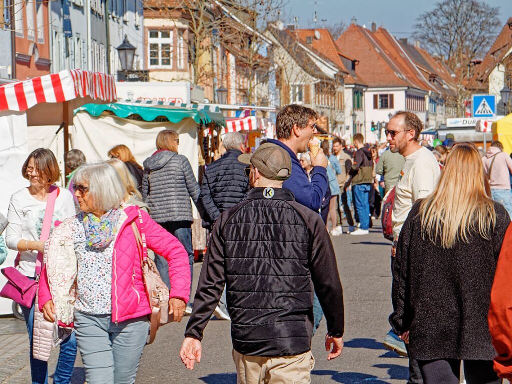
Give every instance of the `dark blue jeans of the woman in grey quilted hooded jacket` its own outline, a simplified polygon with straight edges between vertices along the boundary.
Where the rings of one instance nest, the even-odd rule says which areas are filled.
[[[170,234],[175,236],[180,243],[185,247],[188,253],[188,263],[190,264],[190,302],[194,297],[192,292],[192,276],[194,274],[194,251],[192,250],[192,229],[189,221],[169,221],[167,223],[160,223],[160,225]],[[158,272],[163,282],[170,289],[169,279],[169,264],[165,258],[155,254],[155,264],[157,265]]]

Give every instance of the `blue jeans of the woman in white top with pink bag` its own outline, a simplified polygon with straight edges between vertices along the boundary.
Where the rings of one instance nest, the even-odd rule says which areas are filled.
[[[27,331],[29,332],[30,343],[30,372],[32,375],[33,384],[47,384],[48,383],[48,362],[35,359],[32,356],[32,332],[34,327],[34,304],[32,307],[22,308],[23,317],[27,324]],[[60,344],[59,359],[57,360],[57,367],[53,374],[53,382],[55,384],[68,384],[73,376],[73,366],[75,365],[76,358],[76,338],[73,332],[66,340]]]

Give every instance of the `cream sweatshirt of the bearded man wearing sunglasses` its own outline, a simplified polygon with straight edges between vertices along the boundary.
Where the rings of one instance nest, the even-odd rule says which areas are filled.
[[[403,223],[416,200],[429,196],[441,176],[436,158],[423,146],[405,159],[396,184],[395,204],[391,214],[394,240],[398,240]]]

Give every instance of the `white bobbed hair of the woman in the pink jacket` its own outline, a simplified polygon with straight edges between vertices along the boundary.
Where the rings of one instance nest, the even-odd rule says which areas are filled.
[[[96,209],[108,211],[119,208],[126,190],[115,168],[106,163],[82,165],[73,175],[73,183],[89,184],[89,196]]]

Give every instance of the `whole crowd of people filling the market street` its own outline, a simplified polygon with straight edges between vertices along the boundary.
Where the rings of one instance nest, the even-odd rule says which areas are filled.
[[[285,106],[276,138],[252,154],[242,133],[226,134],[225,154],[201,180],[171,130],[142,166],[125,145],[92,164],[70,151],[66,187],[55,186],[53,153],[33,151],[5,236],[18,252],[10,284],[37,290],[20,303],[32,382],[48,382],[52,345],[55,383],[70,382],[78,351],[89,384],[135,382],[153,308],[146,248],[169,291],[169,315],[190,315],[179,351],[186,368],[201,360],[215,314],[231,320],[238,383],[310,382],[311,340],[324,317],[327,359],[344,343],[330,236],[368,235],[381,202],[393,206],[392,329],[383,344],[409,356],[408,382],[458,383],[461,361],[468,384],[511,377],[512,159],[501,143],[485,155],[453,137],[423,143],[421,121],[400,111],[384,144],[355,134],[350,145],[327,138],[318,150],[317,118]],[[210,233],[195,294],[192,204]]]

